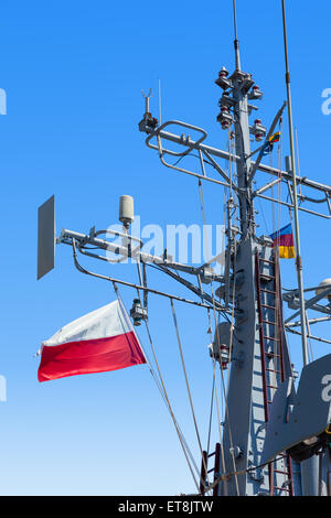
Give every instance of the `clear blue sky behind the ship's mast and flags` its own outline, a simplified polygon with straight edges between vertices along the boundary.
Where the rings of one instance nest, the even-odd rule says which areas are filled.
[[[259,115],[267,125],[286,97],[280,1],[237,3],[242,64],[265,93]],[[330,6],[288,4],[301,171],[330,183],[331,116],[321,112],[321,93],[331,87]],[[194,490],[146,367],[38,382],[33,354],[42,339],[114,300],[114,293],[106,282],[78,273],[64,246],[56,269],[36,282],[36,208],[55,194],[57,229],[87,231],[117,223],[118,197],[131,194],[142,224],[201,224],[196,182],[162,168],[138,131],[140,89],[157,93],[161,78],[163,120],[201,126],[211,145],[224,147],[214,79],[223,64],[234,66],[231,8],[231,0],[1,4],[0,87],[8,95],[8,115],[0,116],[0,374],[8,381],[8,401],[0,403],[2,495]],[[151,106],[157,115],[157,97]],[[207,223],[222,222],[223,191],[206,186],[205,196]],[[264,225],[261,233],[273,230]],[[303,216],[301,231],[305,280],[316,285],[331,277],[330,224]],[[293,261],[281,265],[290,288]],[[136,279],[131,267],[88,266]],[[177,289],[156,273],[150,282]],[[129,306],[135,293],[122,294]],[[178,312],[205,443],[212,384],[207,322],[200,310],[178,305]],[[167,300],[150,299],[150,326],[171,400],[199,458]],[[320,332],[330,336],[330,326]],[[147,345],[143,333],[141,338]],[[291,339],[290,349],[300,368],[300,342]],[[316,350],[320,356],[329,347]]]

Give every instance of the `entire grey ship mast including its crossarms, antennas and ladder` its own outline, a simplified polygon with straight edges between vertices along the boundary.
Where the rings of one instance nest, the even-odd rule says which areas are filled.
[[[100,238],[99,236],[106,234],[106,230],[96,230],[94,227],[88,235],[64,229],[56,242],[70,245],[73,248],[74,263],[81,272],[110,281],[116,287],[118,284],[126,285],[134,288],[138,293],[142,292],[142,300],[136,299],[134,301],[130,313],[138,323],[148,320],[148,293],[169,298],[172,309],[173,301],[179,301],[195,304],[203,310],[217,314],[211,356],[213,365],[215,363],[220,364],[223,381],[227,373],[227,391],[225,395],[224,422],[222,422],[222,445],[216,444],[215,447],[214,482],[212,484],[207,477],[210,473],[207,462],[211,455],[209,452],[202,452],[203,463],[200,484],[202,494],[206,494],[212,489],[213,494],[217,496],[299,496],[302,494],[301,474],[303,474],[303,494],[314,495],[316,484],[309,482],[309,478],[317,478],[312,465],[314,463],[308,463],[303,465],[303,470],[300,470],[297,460],[299,458],[298,462],[300,462],[303,455],[302,452],[305,455],[314,454],[314,451],[318,450],[313,450],[313,447],[317,446],[311,446],[310,442],[305,444],[303,439],[306,436],[298,435],[296,425],[293,425],[291,433],[288,433],[288,430],[284,433],[285,442],[284,444],[279,443],[284,447],[279,446],[274,452],[273,441],[278,434],[277,425],[279,423],[278,417],[275,419],[273,403],[277,400],[277,410],[279,411],[280,408],[282,414],[289,417],[286,422],[291,420],[291,414],[288,414],[288,412],[293,407],[295,373],[289,357],[286,331],[291,332],[291,325],[296,325],[296,323],[291,324],[290,321],[293,321],[300,314],[301,333],[299,334],[301,334],[302,339],[303,365],[309,367],[306,311],[307,309],[313,309],[322,312],[324,317],[325,314],[328,317],[331,316],[331,307],[320,304],[323,298],[331,296],[330,285],[320,289],[314,296],[305,301],[305,293],[314,290],[314,288],[303,290],[298,218],[299,211],[303,211],[310,215],[330,219],[331,187],[308,180],[306,176],[298,177],[296,174],[285,0],[282,0],[282,15],[288,98],[276,112],[268,129],[263,126],[260,119],[255,119],[253,123],[249,122],[250,116],[257,110],[257,107],[252,102],[259,100],[263,94],[253,80],[252,74],[242,69],[235,0],[233,0],[233,13],[235,71],[229,75],[223,66],[215,83],[222,91],[218,101],[221,111],[217,121],[222,129],[227,131],[228,142],[235,142],[235,152],[233,152],[232,145],[227,151],[224,151],[205,144],[206,131],[191,123],[179,120],[160,123],[150,111],[149,99],[151,91],[148,96],[145,95],[146,108],[143,118],[139,122],[139,130],[147,134],[146,144],[158,152],[163,165],[171,171],[179,171],[190,175],[190,177],[199,179],[199,185],[202,182],[211,182],[224,187],[227,194],[226,208],[228,215],[224,273],[216,273],[211,267],[217,260],[217,257],[214,258],[214,261],[193,267],[175,262],[168,255],[167,249],[159,257],[146,253],[142,240],[130,236],[129,223],[125,226],[122,233],[113,233],[113,235],[122,238],[121,245],[109,241],[107,236]],[[288,106],[289,114],[291,166],[288,171],[282,171],[261,163],[261,160],[266,150],[270,149],[270,142],[275,137],[274,133],[280,123],[286,106]],[[181,133],[170,132],[169,127],[180,128]],[[190,130],[194,131],[195,134],[197,133],[196,140],[192,140],[190,134],[183,133],[183,131]],[[254,151],[250,149],[252,137],[259,145]],[[174,151],[173,147],[168,148],[168,142],[177,144],[180,151]],[[184,166],[183,159],[190,154],[194,158],[197,157],[201,172]],[[175,161],[168,161],[169,158],[174,158]],[[231,168],[228,172],[225,171],[218,163],[220,159],[225,159],[234,165],[236,174],[233,175],[229,172]],[[207,174],[206,165],[212,166],[212,175]],[[255,175],[258,171],[269,174],[273,180],[263,186],[256,187]],[[290,202],[280,198],[275,201],[266,194],[269,188],[280,183],[288,187]],[[305,197],[301,197],[302,204],[298,206],[297,184],[307,190],[313,190],[314,194],[322,196],[322,198],[307,196],[305,199]],[[281,290],[278,249],[274,246],[274,241],[269,236],[257,236],[256,234],[255,198],[261,198],[270,203],[276,202],[279,206],[284,206],[295,214],[298,289],[288,290],[286,294]],[[303,206],[305,201],[318,203],[319,207],[327,206],[328,213],[323,214],[312,208],[306,208]],[[128,217],[125,217],[128,222],[134,218],[131,202],[129,206],[131,208],[127,215]],[[44,207],[41,207],[39,278],[54,267],[54,201],[51,199]],[[96,250],[106,250],[111,255],[111,258],[100,256]],[[77,252],[111,263],[128,258],[137,261],[139,284],[87,270],[78,262]],[[143,274],[141,274],[140,265],[143,267]],[[146,267],[149,265],[184,285],[199,301],[150,288],[146,276]],[[213,283],[217,283],[217,296],[215,296],[214,290],[211,289]],[[290,309],[298,310],[286,321],[282,315],[282,300],[288,302]],[[331,364],[331,355],[328,361]],[[320,367],[321,364],[319,364],[314,373],[320,374],[322,368],[328,368],[328,361],[325,361],[324,367]],[[314,386],[319,388],[319,381],[314,380]],[[319,404],[321,404],[320,401]],[[296,407],[292,412],[296,412]],[[309,420],[307,424],[303,417],[303,424],[307,424],[307,438],[310,441],[311,436],[317,434],[317,445],[324,445],[322,432],[328,425],[328,412],[329,407],[328,401],[325,401],[325,406],[321,407],[316,419],[318,422],[317,430],[314,430],[313,423],[310,427]],[[282,423],[282,429],[286,428],[286,422]],[[273,435],[275,429],[276,432]],[[269,436],[271,433],[271,453],[267,454],[265,445],[268,443],[268,433]],[[297,438],[297,442],[291,442],[293,436]],[[298,444],[300,446],[299,455],[296,451],[291,456],[289,446],[297,446]],[[182,443],[182,446],[185,451],[184,443]],[[268,461],[263,463],[261,458],[266,455]],[[307,455],[305,458],[308,458]]]

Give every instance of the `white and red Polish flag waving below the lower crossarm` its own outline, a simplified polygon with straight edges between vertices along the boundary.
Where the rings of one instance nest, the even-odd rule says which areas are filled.
[[[39,381],[146,364],[138,336],[119,301],[65,325],[42,343],[40,354]]]

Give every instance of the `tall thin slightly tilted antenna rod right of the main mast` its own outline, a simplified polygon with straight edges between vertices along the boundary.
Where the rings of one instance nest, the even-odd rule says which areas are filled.
[[[299,288],[299,300],[300,300],[302,357],[303,357],[303,365],[307,365],[309,363],[309,359],[308,359],[308,345],[307,345],[307,334],[306,334],[306,309],[305,309],[305,299],[303,299],[302,259],[301,259],[301,251],[300,251],[297,173],[296,173],[293,119],[292,119],[292,104],[291,104],[291,83],[290,83],[290,73],[289,73],[289,63],[288,63],[285,0],[281,0],[281,4],[282,4],[284,46],[285,46],[285,64],[286,64],[286,88],[287,88],[287,101],[288,101],[287,106],[288,106],[290,155],[291,155],[291,173],[292,173],[292,185],[293,185],[293,214],[295,214],[295,235],[296,235],[296,256],[297,256],[296,268],[297,268],[297,276],[298,276],[298,288]]]

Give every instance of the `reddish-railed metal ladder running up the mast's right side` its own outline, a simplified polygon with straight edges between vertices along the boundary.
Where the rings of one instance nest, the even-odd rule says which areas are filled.
[[[264,259],[256,249],[255,266],[264,412],[267,423],[275,391],[285,379],[284,321],[277,251],[274,251],[270,259]],[[264,272],[266,267],[269,268],[268,274]],[[266,333],[266,328],[268,328],[268,333]],[[276,494],[293,496],[291,460],[289,455],[282,455],[278,457],[278,463],[280,461],[285,464],[281,470],[277,467],[276,461],[268,464],[269,494],[270,496],[276,496]],[[275,485],[277,474],[284,475],[285,482],[281,487]]]

